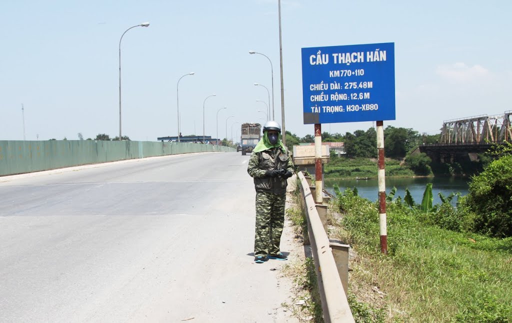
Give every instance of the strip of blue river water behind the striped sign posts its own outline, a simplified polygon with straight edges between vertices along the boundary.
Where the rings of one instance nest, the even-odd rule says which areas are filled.
[[[406,195],[405,189],[408,188],[411,192],[414,201],[421,204],[423,192],[427,183],[432,183],[432,193],[434,195],[434,204],[440,204],[441,199],[438,193],[441,192],[445,197],[452,192],[460,192],[461,195],[467,194],[469,178],[460,177],[414,177],[414,178],[386,178],[386,194],[389,194],[391,189],[396,187],[395,197],[401,196],[402,199]],[[378,183],[377,178],[372,179],[343,179],[343,180],[325,180],[325,189],[327,192],[335,195],[333,185],[337,184],[340,191],[346,188],[357,188],[358,194],[361,197],[368,198],[371,201],[376,201],[378,198]],[[456,198],[453,200],[456,201]]]

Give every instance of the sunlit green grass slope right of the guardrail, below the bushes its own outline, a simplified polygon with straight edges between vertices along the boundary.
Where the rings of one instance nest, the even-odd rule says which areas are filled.
[[[346,192],[338,206],[344,217],[336,238],[357,254],[349,279],[351,291],[359,292],[356,301],[364,302],[369,288],[385,295],[366,300],[387,317],[358,321],[512,322],[512,238],[428,226],[408,207],[391,203],[389,254],[382,255],[375,203]]]

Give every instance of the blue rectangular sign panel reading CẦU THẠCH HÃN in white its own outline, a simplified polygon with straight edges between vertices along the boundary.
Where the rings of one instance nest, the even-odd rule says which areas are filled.
[[[302,49],[304,124],[395,119],[395,44]]]

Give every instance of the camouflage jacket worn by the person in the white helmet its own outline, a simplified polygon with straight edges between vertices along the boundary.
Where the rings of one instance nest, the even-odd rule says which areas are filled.
[[[257,153],[252,152],[247,173],[254,178],[254,188],[257,192],[286,193],[286,178],[265,175],[267,170],[278,168],[287,169],[293,174],[293,161],[288,151],[283,153],[280,148],[271,148]]]

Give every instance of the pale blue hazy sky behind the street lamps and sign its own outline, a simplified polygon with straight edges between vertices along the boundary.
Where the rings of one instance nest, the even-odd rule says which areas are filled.
[[[303,121],[307,47],[394,43],[396,120],[385,127],[436,134],[443,120],[512,110],[510,12],[508,0],[283,0],[286,130],[314,135]],[[117,136],[119,41],[144,22],[121,41],[123,136],[176,136],[179,102],[183,135],[203,135],[204,107],[205,134],[236,141],[242,123],[266,121],[257,100],[272,92],[281,123],[277,0],[1,0],[0,21],[0,140]]]

